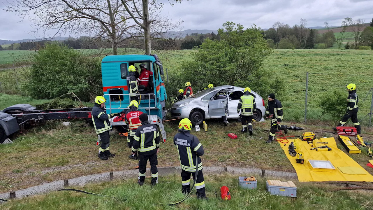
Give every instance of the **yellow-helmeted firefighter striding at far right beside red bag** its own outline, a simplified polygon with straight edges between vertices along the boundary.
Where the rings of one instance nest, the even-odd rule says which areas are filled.
[[[357,98],[356,93],[356,85],[355,84],[348,84],[346,86],[348,90],[348,97],[347,97],[347,112],[346,114],[341,118],[341,121],[339,122],[338,126],[345,126],[347,120],[351,117],[352,123],[354,123],[354,126],[357,130],[357,133],[361,133],[361,127],[359,120],[357,119],[357,111],[359,108],[357,107],[357,103],[359,102],[359,99]],[[333,130],[337,130],[336,128],[333,128]]]

